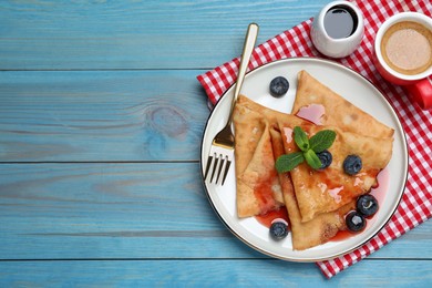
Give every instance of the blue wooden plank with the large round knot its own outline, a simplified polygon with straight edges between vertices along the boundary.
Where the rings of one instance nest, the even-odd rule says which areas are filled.
[[[0,162],[199,157],[200,70],[0,73]]]

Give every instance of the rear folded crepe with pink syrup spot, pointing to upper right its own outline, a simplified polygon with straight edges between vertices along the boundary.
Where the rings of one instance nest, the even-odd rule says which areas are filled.
[[[374,137],[392,137],[394,130],[360,110],[306,71],[298,73],[296,100],[291,114],[317,125]]]

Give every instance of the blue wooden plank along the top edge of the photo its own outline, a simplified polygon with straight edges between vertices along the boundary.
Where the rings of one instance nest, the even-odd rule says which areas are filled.
[[[1,1],[0,70],[213,68],[313,17],[328,0]]]

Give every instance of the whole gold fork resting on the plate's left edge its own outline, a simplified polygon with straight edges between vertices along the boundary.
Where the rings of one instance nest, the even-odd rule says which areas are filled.
[[[207,158],[207,165],[204,174],[204,179],[207,181],[207,176],[212,175],[209,183],[213,183],[215,176],[215,184],[219,182],[222,175],[222,185],[224,185],[226,176],[229,171],[234,158],[234,134],[232,130],[233,112],[237,101],[237,96],[240,93],[243,81],[245,79],[246,70],[249,64],[250,55],[254,51],[255,42],[258,35],[258,25],[250,23],[247,29],[245,44],[243,47],[243,54],[240,59],[240,65],[238,69],[236,86],[229,109],[228,121],[223,130],[220,130],[212,142],[210,153]],[[213,164],[213,167],[212,167]],[[210,173],[212,171],[212,173]]]

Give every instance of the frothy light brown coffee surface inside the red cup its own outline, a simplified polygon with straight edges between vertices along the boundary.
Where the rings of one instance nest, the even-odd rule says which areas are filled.
[[[432,31],[419,22],[398,22],[382,35],[381,53],[399,73],[422,73],[432,65]]]

